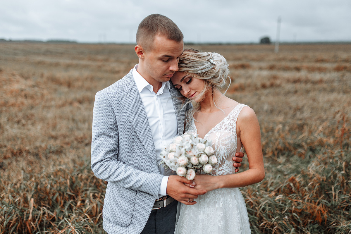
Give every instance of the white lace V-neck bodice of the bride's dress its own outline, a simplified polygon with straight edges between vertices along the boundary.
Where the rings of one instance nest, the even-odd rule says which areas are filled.
[[[239,104],[214,128],[212,128],[204,139],[212,141],[214,154],[217,157],[218,163],[213,167],[211,175],[226,175],[234,174],[235,167],[233,166],[233,156],[237,151],[237,119],[240,111],[245,107],[244,104]],[[185,132],[197,134],[193,118],[193,109],[190,109],[185,114]],[[242,147],[241,147],[242,148]]]

